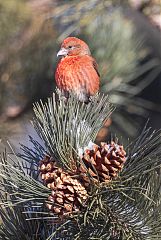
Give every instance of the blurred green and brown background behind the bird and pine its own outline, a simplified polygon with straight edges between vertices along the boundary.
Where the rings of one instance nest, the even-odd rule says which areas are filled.
[[[97,141],[161,127],[160,0],[0,0],[0,141],[27,141],[32,103],[55,89],[67,36],[90,46],[115,112]],[[2,144],[3,145],[3,144]]]

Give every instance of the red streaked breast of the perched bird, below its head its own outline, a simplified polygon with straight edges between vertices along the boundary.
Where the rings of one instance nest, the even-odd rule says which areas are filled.
[[[99,74],[95,60],[88,55],[67,56],[58,63],[55,80],[63,91],[85,91],[89,96],[99,90]]]

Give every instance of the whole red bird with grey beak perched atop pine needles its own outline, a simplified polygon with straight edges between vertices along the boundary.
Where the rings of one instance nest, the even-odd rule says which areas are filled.
[[[100,74],[96,60],[88,45],[76,37],[67,37],[57,53],[61,57],[55,71],[58,89],[68,98],[69,93],[88,103],[100,86]]]

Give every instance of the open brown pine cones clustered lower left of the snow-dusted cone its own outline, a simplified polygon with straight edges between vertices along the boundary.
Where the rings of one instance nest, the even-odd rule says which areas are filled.
[[[87,199],[87,191],[78,179],[58,168],[50,156],[40,163],[42,180],[51,189],[47,207],[53,213],[70,214],[80,210]]]

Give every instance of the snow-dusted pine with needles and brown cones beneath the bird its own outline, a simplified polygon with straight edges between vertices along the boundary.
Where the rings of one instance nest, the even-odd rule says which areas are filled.
[[[43,143],[1,154],[0,239],[161,239],[160,131],[96,145],[114,110],[100,94],[84,104],[58,92],[33,109]]]

